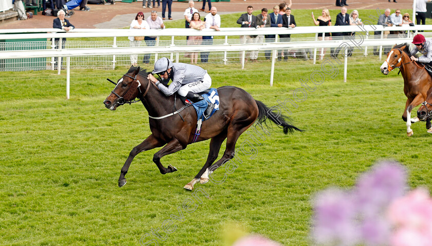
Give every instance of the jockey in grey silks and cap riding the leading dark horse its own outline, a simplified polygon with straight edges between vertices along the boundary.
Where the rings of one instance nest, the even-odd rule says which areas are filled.
[[[157,74],[161,78],[160,81],[152,74]],[[178,95],[186,97],[192,102],[204,100],[204,97],[196,93],[205,91],[211,86],[211,78],[203,68],[186,63],[173,63],[166,57],[156,61],[152,74],[149,74],[147,79],[155,83],[166,96],[177,92]],[[167,87],[166,84],[170,79],[172,82]],[[214,108],[213,103],[208,102],[208,104],[204,113],[206,118],[209,117]]]

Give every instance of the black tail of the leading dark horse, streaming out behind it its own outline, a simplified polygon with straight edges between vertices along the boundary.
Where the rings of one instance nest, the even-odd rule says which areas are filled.
[[[290,117],[282,115],[280,112],[276,112],[276,109],[268,108],[261,101],[255,100],[258,106],[258,122],[260,124],[266,124],[266,120],[270,119],[275,122],[276,125],[283,128],[283,133],[287,134],[288,132],[292,133],[294,130],[302,132],[303,130],[298,129],[297,127],[290,125],[287,121],[291,121]]]

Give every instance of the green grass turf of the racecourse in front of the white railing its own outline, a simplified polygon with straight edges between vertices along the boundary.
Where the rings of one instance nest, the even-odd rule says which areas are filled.
[[[284,245],[307,245],[315,192],[350,187],[379,160],[401,162],[412,187],[430,189],[432,136],[423,122],[413,124],[414,135],[406,136],[403,79],[397,72],[382,75],[381,63],[376,57],[350,58],[347,83],[338,66],[335,78],[326,76],[298,108],[290,107],[294,125],[304,132],[284,135],[273,127],[260,146],[243,134],[238,168],[222,184],[196,184],[209,199],[200,196],[202,203],[194,200],[193,212],[182,210],[184,220],[173,219],[174,232],[160,232],[167,238],[159,245],[227,245],[235,237],[232,226]],[[269,62],[247,63],[245,69],[237,64],[203,67],[213,87],[242,87],[268,106],[292,99],[302,87],[300,79],[309,79],[313,87],[310,75],[321,69],[308,61],[278,62],[271,87]],[[116,111],[103,106],[113,89],[105,78],[117,80],[127,69],[71,70],[69,100],[65,71],[60,76],[57,71],[2,73],[0,244],[138,245],[193,199],[183,186],[204,164],[209,141],[161,159],[178,168],[166,175],[152,162],[158,149],[140,153],[128,183],[117,187],[130,150],[150,134],[141,104]],[[254,155],[241,149],[247,142]],[[224,173],[218,169],[214,179]]]

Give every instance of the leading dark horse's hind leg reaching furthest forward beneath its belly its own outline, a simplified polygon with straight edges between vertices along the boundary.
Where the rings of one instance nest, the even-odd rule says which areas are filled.
[[[219,150],[221,149],[222,143],[226,138],[226,131],[221,134],[214,136],[210,140],[210,150],[208,152],[207,161],[204,164],[203,168],[196,174],[195,178],[187,183],[184,188],[188,190],[193,189],[193,185],[200,182],[200,184],[205,184],[208,182],[208,167],[218,158]]]

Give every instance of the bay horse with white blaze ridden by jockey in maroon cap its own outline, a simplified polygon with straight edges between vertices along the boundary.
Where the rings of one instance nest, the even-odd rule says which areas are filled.
[[[380,68],[384,75],[395,68],[399,68],[402,73],[404,93],[407,97],[402,119],[406,121],[406,134],[412,136],[411,123],[419,121],[419,118],[411,119],[411,110],[426,100],[427,92],[432,87],[432,78],[424,69],[424,65],[411,60],[407,43],[395,45],[388,52],[387,60]],[[426,128],[430,128],[430,123],[426,124]]]

